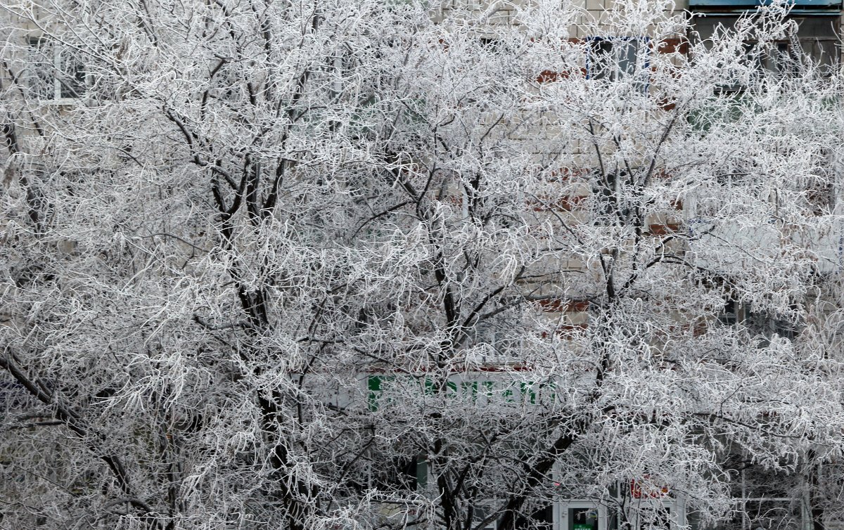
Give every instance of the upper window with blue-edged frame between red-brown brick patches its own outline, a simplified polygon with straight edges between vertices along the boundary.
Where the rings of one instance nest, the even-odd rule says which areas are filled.
[[[617,81],[632,77],[640,89],[647,87],[647,39],[592,37],[587,43],[587,78]]]

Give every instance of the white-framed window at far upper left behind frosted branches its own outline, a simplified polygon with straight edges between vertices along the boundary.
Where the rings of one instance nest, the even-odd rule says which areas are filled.
[[[39,100],[83,95],[85,71],[78,51],[47,37],[30,38],[30,89]]]

